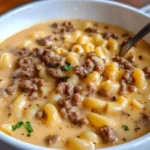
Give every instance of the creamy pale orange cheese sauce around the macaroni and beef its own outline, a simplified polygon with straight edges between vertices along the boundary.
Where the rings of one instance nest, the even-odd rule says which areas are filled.
[[[119,40],[117,41],[117,44],[119,45],[118,49],[111,53],[110,57],[106,57],[105,59],[109,60],[112,58],[112,56],[116,55],[118,51],[120,50],[120,45],[122,41],[126,41],[129,36],[132,34],[128,31],[116,27],[113,25],[105,24],[105,23],[97,23],[93,21],[85,21],[85,20],[69,20],[75,30],[73,32],[66,32],[66,33],[54,33],[54,29],[51,27],[53,22],[47,22],[42,24],[37,24],[29,29],[26,29],[24,31],[21,31],[12,37],[6,39],[0,44],[0,53],[1,55],[3,53],[10,53],[11,54],[11,67],[9,68],[1,68],[0,69],[0,88],[5,89],[6,87],[10,86],[12,84],[12,75],[14,71],[17,68],[18,58],[19,56],[16,55],[16,52],[24,47],[28,48],[35,48],[35,47],[41,47],[37,42],[36,39],[44,38],[48,35],[51,35],[52,37],[57,38],[58,40],[52,41],[52,45],[57,45],[58,47],[66,49],[68,52],[71,51],[71,48],[73,45],[77,43],[77,40],[74,39],[75,34],[74,32],[76,30],[80,31],[82,35],[86,35],[89,38],[93,38],[97,34],[102,34],[104,32],[112,32],[115,35],[119,37]],[[62,24],[64,21],[56,21],[58,24]],[[86,28],[96,28],[98,30],[97,33],[89,33],[84,32]],[[127,33],[129,36],[122,36],[123,34]],[[67,38],[66,38],[67,37]],[[79,37],[78,37],[79,38]],[[108,41],[108,40],[106,40]],[[81,44],[82,45],[82,44]],[[94,45],[94,49],[96,49],[97,45]],[[107,47],[107,46],[106,46]],[[107,47],[108,52],[109,47]],[[136,68],[143,69],[144,67],[150,66],[150,44],[145,42],[144,40],[141,40],[136,44],[136,46],[132,47],[130,52],[126,54],[126,58],[128,56],[132,55],[135,57],[134,62],[132,63]],[[80,56],[80,54],[77,53],[77,55]],[[84,56],[83,56],[84,58]],[[83,64],[84,59],[82,57],[79,58],[80,65]],[[18,119],[15,114],[12,112],[13,103],[15,102],[18,95],[22,93],[22,91],[17,90],[15,94],[7,95],[5,98],[1,96],[0,99],[0,127],[1,130],[4,131],[3,125],[9,124],[10,126],[15,125],[19,121],[30,121],[33,132],[31,133],[31,136],[27,136],[27,130],[21,126],[19,129],[16,129],[15,131],[10,131],[10,136],[17,138],[21,141],[25,141],[31,144],[40,145],[40,146],[47,146],[45,143],[45,137],[48,135],[60,135],[61,141],[50,145],[50,147],[60,148],[60,149],[68,149],[67,140],[70,137],[78,137],[83,131],[93,131],[97,134],[97,128],[92,127],[89,124],[83,125],[82,127],[74,125],[70,123],[69,120],[61,118],[61,123],[54,125],[54,126],[47,126],[45,122],[42,122],[41,120],[37,120],[32,114],[28,114],[29,111],[32,109],[35,109],[37,107],[37,110],[43,109],[44,106],[47,103],[52,103],[57,107],[56,100],[53,100],[52,93],[55,91],[56,88],[56,82],[53,77],[49,77],[45,82],[48,82],[49,85],[51,85],[53,90],[50,90],[46,96],[42,96],[39,94],[38,99],[30,101],[27,100],[25,105],[23,106],[23,109],[20,111],[22,113],[22,117]],[[139,77],[140,80],[140,77]],[[114,143],[105,143],[103,142],[103,139],[100,135],[98,135],[98,143],[95,144],[95,148],[101,148],[101,147],[108,147],[113,145],[118,145],[121,143],[125,143],[131,140],[134,140],[138,137],[143,136],[144,134],[148,133],[150,131],[150,126],[148,121],[143,120],[142,113],[148,112],[150,113],[150,82],[149,79],[146,79],[146,87],[142,90],[138,89],[137,92],[128,92],[125,97],[128,100],[128,104],[125,108],[121,109],[120,111],[117,111],[117,113],[108,113],[105,110],[98,110],[96,113],[103,115],[105,117],[108,117],[116,123],[115,126],[113,126],[113,130],[118,138],[118,140]],[[83,85],[85,84],[84,79],[79,79],[79,84]],[[86,96],[83,92],[83,98]],[[25,95],[27,95],[25,93]],[[118,94],[117,94],[118,96]],[[111,99],[107,97],[100,96],[99,94],[94,94],[92,97],[97,97],[98,99],[102,99],[106,102],[112,101]],[[136,108],[131,105],[131,101],[133,99],[136,99],[140,101],[140,104],[142,105],[142,108]],[[11,107],[11,108],[10,108]],[[19,107],[19,106],[18,106]],[[33,108],[32,108],[33,107]],[[77,106],[78,107],[78,106]],[[59,108],[57,107],[58,112]],[[80,106],[80,113],[83,116],[87,116],[88,113],[90,113],[92,110],[85,108],[84,106]],[[126,131],[122,128],[122,125],[128,126],[129,130]],[[6,132],[6,131],[4,131]],[[8,132],[7,132],[8,133]]]

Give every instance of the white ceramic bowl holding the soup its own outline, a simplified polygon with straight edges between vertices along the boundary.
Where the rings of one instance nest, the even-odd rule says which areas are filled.
[[[38,1],[14,9],[0,17],[0,41],[39,22],[50,19],[91,19],[121,26],[136,33],[150,21],[139,10],[116,2],[102,0],[50,0]],[[148,41],[150,35],[145,37]],[[150,40],[149,40],[150,41]],[[14,139],[0,132],[3,150],[50,150]],[[0,148],[0,149],[1,149]],[[150,133],[118,146],[103,150],[149,150]],[[53,149],[54,150],[54,149]],[[55,149],[56,150],[56,149]]]

